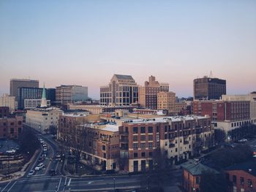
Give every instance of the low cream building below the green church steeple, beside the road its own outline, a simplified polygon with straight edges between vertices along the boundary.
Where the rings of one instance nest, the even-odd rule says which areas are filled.
[[[35,108],[26,112],[26,125],[36,129],[41,133],[45,133],[50,126],[59,127],[59,115],[62,111],[50,108]]]

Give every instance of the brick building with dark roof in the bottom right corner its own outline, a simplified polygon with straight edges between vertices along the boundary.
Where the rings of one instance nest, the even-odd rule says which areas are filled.
[[[235,164],[225,169],[229,185],[229,191],[256,191],[256,161],[249,160],[241,164]]]

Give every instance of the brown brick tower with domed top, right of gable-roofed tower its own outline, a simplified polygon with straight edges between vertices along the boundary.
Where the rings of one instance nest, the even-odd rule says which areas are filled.
[[[159,83],[156,81],[156,77],[148,77],[148,81],[144,86],[139,87],[139,104],[140,107],[144,107],[151,110],[157,110],[157,93],[160,91],[168,92],[168,83]]]

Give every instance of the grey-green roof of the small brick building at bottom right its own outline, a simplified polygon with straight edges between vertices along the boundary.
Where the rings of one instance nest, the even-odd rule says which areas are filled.
[[[217,172],[215,169],[211,169],[210,167],[198,163],[192,163],[192,162],[187,162],[185,164],[181,165],[184,169],[186,169],[189,173],[191,173],[192,175],[200,175],[203,172],[209,171],[209,172],[214,172],[215,174],[218,174],[219,172]]]

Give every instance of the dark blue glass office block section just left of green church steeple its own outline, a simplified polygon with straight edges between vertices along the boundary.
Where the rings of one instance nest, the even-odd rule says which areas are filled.
[[[42,88],[18,88],[18,109],[23,110],[25,99],[42,99]]]

